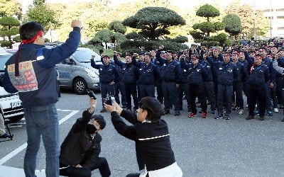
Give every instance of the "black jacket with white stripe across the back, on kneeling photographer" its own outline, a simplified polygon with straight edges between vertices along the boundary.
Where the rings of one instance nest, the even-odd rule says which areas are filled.
[[[154,171],[175,163],[165,120],[138,122],[137,115],[126,110],[121,112],[121,117],[126,118],[133,125],[126,125],[116,111],[111,113],[111,121],[116,131],[136,142],[136,156],[140,170],[142,166],[146,166],[147,171]]]

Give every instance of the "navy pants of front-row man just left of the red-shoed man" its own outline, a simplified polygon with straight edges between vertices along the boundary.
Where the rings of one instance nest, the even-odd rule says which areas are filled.
[[[164,96],[164,105],[165,110],[170,110],[170,107],[173,103],[175,106],[175,110],[180,110],[179,108],[179,101],[178,101],[178,89],[175,86],[174,81],[163,81],[162,83],[163,88],[163,96]]]

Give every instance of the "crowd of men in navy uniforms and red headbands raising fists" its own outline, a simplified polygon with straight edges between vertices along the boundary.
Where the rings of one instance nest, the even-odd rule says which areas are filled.
[[[254,41],[222,49],[192,45],[190,50],[178,52],[164,51],[160,45],[150,52],[126,53],[125,62],[115,51],[114,61],[107,55],[102,55],[103,64],[91,60],[92,67],[99,69],[102,102],[114,96],[127,110],[136,111],[138,101],[155,97],[155,90],[165,115],[172,108],[175,116],[180,115],[182,100],[186,100],[189,118],[197,116],[197,105],[201,107],[198,113],[207,118],[210,105],[215,119],[229,120],[231,110],[244,114],[245,98],[249,108],[246,120],[255,115],[264,120],[284,104],[284,48],[279,38],[267,45]]]

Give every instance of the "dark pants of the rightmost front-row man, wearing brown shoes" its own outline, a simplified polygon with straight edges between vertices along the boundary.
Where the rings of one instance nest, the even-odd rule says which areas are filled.
[[[249,86],[249,115],[253,115],[253,111],[256,107],[256,100],[258,100],[259,106],[259,115],[264,115],[266,111],[266,86],[258,85],[258,86]]]

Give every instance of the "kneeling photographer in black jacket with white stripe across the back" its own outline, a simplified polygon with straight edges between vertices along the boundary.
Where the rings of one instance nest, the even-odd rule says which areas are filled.
[[[136,142],[136,156],[138,165],[144,166],[141,173],[132,176],[182,176],[180,167],[175,162],[175,156],[170,145],[168,125],[161,120],[163,113],[160,102],[152,97],[144,97],[138,104],[137,115],[122,109],[117,103],[104,104],[104,108],[111,113],[111,121],[119,134]],[[126,125],[120,116],[126,118],[133,125]]]

